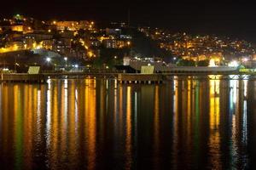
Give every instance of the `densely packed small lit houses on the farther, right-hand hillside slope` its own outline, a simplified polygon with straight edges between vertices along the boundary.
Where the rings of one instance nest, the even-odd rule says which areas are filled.
[[[212,59],[216,65],[224,60],[236,59],[241,63],[256,60],[256,47],[247,41],[210,35],[192,36],[185,32],[173,33],[150,27],[141,27],[139,30],[158,42],[160,48],[171,51],[174,59]]]

